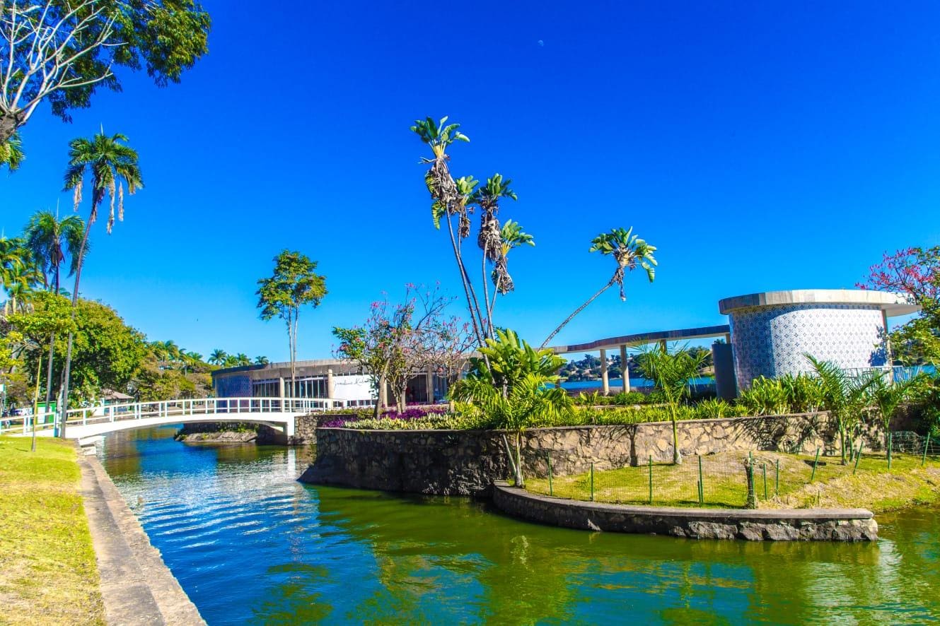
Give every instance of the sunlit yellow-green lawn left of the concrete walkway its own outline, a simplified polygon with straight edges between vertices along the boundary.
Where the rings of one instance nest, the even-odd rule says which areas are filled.
[[[71,442],[0,437],[0,623],[104,622]]]

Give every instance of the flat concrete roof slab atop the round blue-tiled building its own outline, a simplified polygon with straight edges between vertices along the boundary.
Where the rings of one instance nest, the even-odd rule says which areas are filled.
[[[718,310],[729,314],[737,309],[772,307],[787,304],[854,304],[877,306],[888,317],[917,313],[920,307],[903,294],[870,289],[794,289],[791,291],[765,291],[746,296],[735,296],[718,301]]]

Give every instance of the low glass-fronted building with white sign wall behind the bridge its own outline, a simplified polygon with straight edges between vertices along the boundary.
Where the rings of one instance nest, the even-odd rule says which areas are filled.
[[[290,362],[228,367],[212,372],[212,387],[219,398],[322,398],[344,406],[375,404],[368,375],[349,361],[296,361],[294,381],[291,389]],[[409,381],[405,398],[408,403],[435,403],[444,400],[446,393],[446,378],[428,372]]]

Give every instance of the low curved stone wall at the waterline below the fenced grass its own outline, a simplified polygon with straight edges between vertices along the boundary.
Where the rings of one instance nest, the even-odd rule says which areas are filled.
[[[873,542],[878,524],[864,509],[680,509],[629,507],[538,496],[493,484],[500,511],[541,524],[583,530],[670,535],[690,539]]]

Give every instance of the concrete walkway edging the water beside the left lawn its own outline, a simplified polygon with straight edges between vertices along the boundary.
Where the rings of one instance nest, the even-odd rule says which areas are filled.
[[[205,624],[93,456],[79,452],[82,496],[108,624]]]

